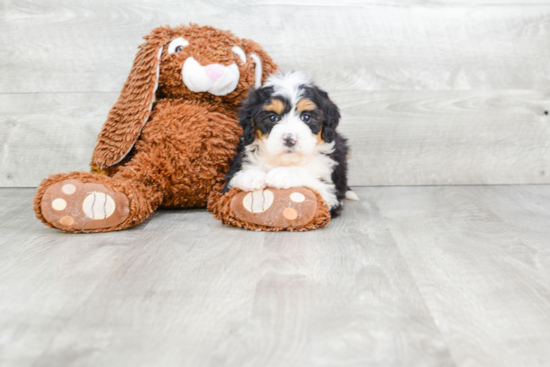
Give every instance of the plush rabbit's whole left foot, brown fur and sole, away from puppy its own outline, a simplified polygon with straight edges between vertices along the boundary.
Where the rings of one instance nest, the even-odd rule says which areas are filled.
[[[34,196],[36,217],[63,232],[109,232],[135,226],[162,201],[155,185],[87,172],[51,175]]]

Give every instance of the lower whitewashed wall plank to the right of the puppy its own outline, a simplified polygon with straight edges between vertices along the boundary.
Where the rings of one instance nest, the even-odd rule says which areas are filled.
[[[550,183],[547,92],[334,94],[351,185]]]

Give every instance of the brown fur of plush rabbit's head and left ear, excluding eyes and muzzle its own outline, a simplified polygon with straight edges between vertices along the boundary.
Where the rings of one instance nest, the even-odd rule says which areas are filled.
[[[183,37],[189,46],[180,52],[168,54],[166,45],[173,39]],[[139,48],[134,66],[122,88],[121,95],[109,112],[107,121],[98,136],[98,144],[92,157],[92,167],[106,169],[123,159],[130,152],[141,129],[148,123],[149,107],[155,98],[155,76],[159,66],[158,52],[162,48],[160,74],[158,76],[157,101],[199,100],[213,109],[236,111],[241,100],[254,85],[255,64],[235,62],[232,46],[241,47],[247,55],[256,53],[262,60],[262,80],[277,69],[271,58],[254,41],[239,39],[229,31],[214,27],[180,26],[176,28],[158,27],[145,36],[147,41]],[[214,96],[208,92],[195,93],[182,82],[181,70],[187,58],[194,57],[201,65],[236,63],[241,78],[235,90],[225,96]],[[223,113],[222,112],[222,113]],[[184,118],[185,115],[180,116]]]

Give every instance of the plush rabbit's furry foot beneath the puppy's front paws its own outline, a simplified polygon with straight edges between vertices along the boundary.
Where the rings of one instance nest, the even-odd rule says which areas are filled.
[[[307,231],[330,221],[328,205],[305,187],[241,191],[233,188],[208,210],[223,223],[252,230]],[[210,203],[215,201],[211,199]]]

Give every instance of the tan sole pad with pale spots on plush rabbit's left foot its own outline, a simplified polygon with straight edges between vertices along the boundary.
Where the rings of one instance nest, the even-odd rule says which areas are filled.
[[[96,183],[65,180],[50,186],[42,197],[42,215],[54,227],[112,228],[128,218],[126,195]]]

